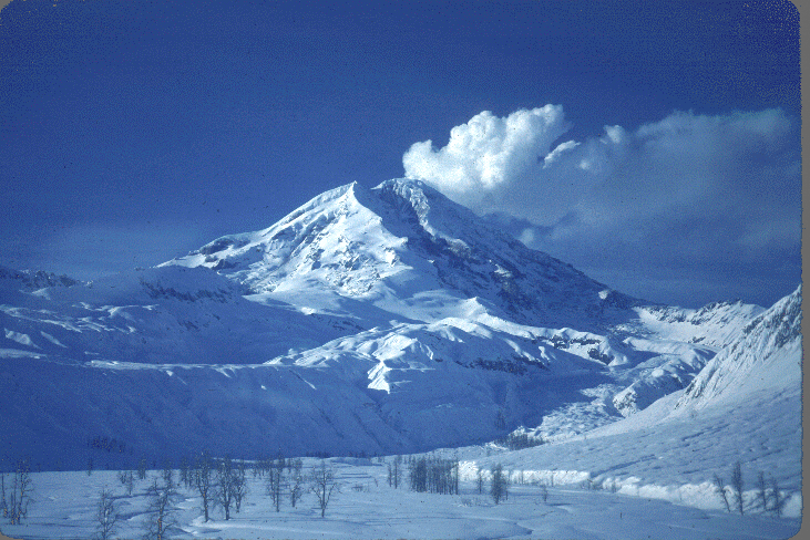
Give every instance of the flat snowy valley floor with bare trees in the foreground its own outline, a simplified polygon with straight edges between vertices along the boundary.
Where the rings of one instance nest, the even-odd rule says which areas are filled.
[[[217,509],[204,523],[198,495],[181,488],[180,531],[173,538],[777,539],[790,538],[800,527],[798,518],[701,510],[578,484],[545,488],[513,484],[509,499],[494,505],[489,495],[479,495],[472,478],[462,479],[460,495],[417,494],[389,487],[387,467],[376,459],[331,461],[340,492],[325,518],[312,494],[305,495],[295,509],[285,500],[276,512],[263,478],[248,475],[242,511],[228,521]],[[306,459],[305,469],[315,463]],[[115,538],[142,538],[148,519],[146,487],[158,472],[148,471],[146,480],[136,480],[132,496],[113,471],[34,474],[35,502],[28,518],[20,526],[3,526],[2,532],[21,539],[91,538],[99,494],[107,487],[120,512]]]

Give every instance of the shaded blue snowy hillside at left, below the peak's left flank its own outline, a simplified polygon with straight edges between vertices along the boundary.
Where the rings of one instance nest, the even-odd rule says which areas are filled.
[[[207,269],[168,267],[6,295],[0,349],[70,362],[255,364],[359,329],[240,292]]]

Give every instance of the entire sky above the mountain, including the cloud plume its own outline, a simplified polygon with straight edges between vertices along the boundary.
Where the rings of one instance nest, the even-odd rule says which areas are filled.
[[[153,266],[408,172],[630,294],[769,305],[801,271],[798,40],[776,1],[16,0],[0,263]]]

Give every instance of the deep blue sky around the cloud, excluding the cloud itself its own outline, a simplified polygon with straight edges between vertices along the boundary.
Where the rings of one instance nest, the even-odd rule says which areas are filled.
[[[326,189],[402,176],[413,143],[441,148],[483,111],[562,105],[556,144],[675,111],[779,110],[792,126],[782,143],[744,158],[782,167],[798,153],[798,12],[775,1],[12,1],[0,11],[0,263],[84,279],[156,264]],[[779,189],[798,228],[798,176]],[[745,227],[745,212],[724,211],[724,230]],[[762,227],[783,227],[762,214]],[[632,226],[660,216],[649,219]],[[627,246],[605,248],[621,260],[539,247],[684,305],[768,304],[799,282],[798,236],[748,255],[732,249],[739,238],[704,237],[722,264],[683,241],[638,260]]]

